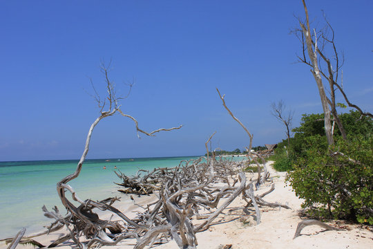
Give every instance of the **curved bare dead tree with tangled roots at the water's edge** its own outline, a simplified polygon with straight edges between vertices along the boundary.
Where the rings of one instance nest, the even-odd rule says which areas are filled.
[[[92,201],[92,200],[86,200],[83,201],[82,199],[79,199],[79,196],[77,196],[77,193],[73,189],[71,185],[68,183],[72,181],[73,179],[77,178],[79,176],[79,173],[82,170],[82,166],[84,164],[84,160],[86,159],[86,155],[88,154],[89,145],[90,145],[90,138],[93,133],[93,129],[95,129],[96,125],[104,118],[110,117],[115,115],[116,113],[121,114],[122,116],[126,118],[131,118],[133,122],[135,122],[137,135],[138,133],[144,133],[146,136],[154,136],[154,133],[157,133],[159,131],[171,131],[173,129],[180,129],[180,127],[173,127],[171,129],[157,129],[155,131],[146,132],[138,127],[138,122],[135,118],[132,116],[124,113],[120,108],[119,100],[122,98],[117,97],[115,86],[111,80],[109,80],[108,77],[108,68],[106,68],[103,64],[101,66],[102,73],[104,73],[105,81],[106,81],[106,91],[107,95],[104,100],[101,100],[98,93],[95,91],[95,100],[97,100],[97,104],[100,108],[100,116],[91,124],[90,129],[88,131],[88,135],[86,138],[86,145],[84,147],[84,152],[82,154],[82,157],[79,160],[79,163],[77,165],[77,169],[73,174],[70,174],[63,178],[59,183],[57,183],[57,193],[59,195],[59,198],[61,199],[62,204],[70,214],[69,219],[62,218],[57,210],[55,210],[54,214],[51,214],[50,212],[46,211],[46,215],[49,215],[52,218],[55,218],[57,221],[64,223],[66,225],[66,228],[70,231],[70,235],[68,237],[70,239],[73,239],[77,246],[79,248],[85,248],[91,241],[99,240],[104,241],[104,243],[114,243],[112,239],[108,238],[108,235],[106,234],[105,230],[106,228],[108,230],[111,230],[113,232],[119,232],[121,231],[121,226],[119,223],[115,223],[112,221],[102,221],[98,218],[97,214],[93,212],[93,208],[97,208],[99,210],[108,210],[115,214],[118,214],[119,216],[122,216],[125,220],[128,222],[129,219],[126,218],[124,214],[119,212],[119,210],[116,210],[112,207],[113,202],[117,201],[117,199],[108,199],[106,201]],[[72,199],[74,201],[77,201],[80,205],[75,206],[72,202],[70,202],[66,198],[66,192],[70,192],[72,195]],[[130,222],[131,223],[131,222]],[[132,223],[135,225],[135,223]],[[81,243],[79,241],[79,237],[84,235],[86,238],[91,238],[91,240],[88,243]]]

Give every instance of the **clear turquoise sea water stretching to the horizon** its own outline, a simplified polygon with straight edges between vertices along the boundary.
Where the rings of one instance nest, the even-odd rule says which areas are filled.
[[[133,175],[138,169],[152,170],[156,167],[175,167],[181,160],[194,157],[169,158],[115,158],[86,160],[82,172],[69,184],[82,199],[102,200],[111,196],[126,196],[117,192],[120,179],[114,173],[117,166],[121,172]],[[79,160],[44,160],[0,162],[0,239],[12,237],[21,228],[26,235],[44,230],[50,225],[41,211],[57,205],[61,214],[66,211],[57,195],[56,184],[68,174],[75,172]],[[106,166],[106,169],[103,167]],[[70,196],[70,194],[67,194]]]

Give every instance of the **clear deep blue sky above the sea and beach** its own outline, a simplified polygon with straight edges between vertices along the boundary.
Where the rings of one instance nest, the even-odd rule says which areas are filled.
[[[297,64],[289,31],[304,17],[301,1],[1,1],[0,161],[79,158],[99,115],[89,77],[104,91],[100,60],[119,93],[135,79],[122,110],[151,131],[138,139],[133,122],[99,123],[88,158],[204,154],[248,145],[227,105],[254,133],[254,145],[275,143],[285,130],[270,113],[284,100],[295,111],[322,111],[309,68]],[[312,25],[325,11],[345,53],[343,84],[352,102],[372,111],[373,2],[307,1]],[[341,96],[339,96],[341,100]]]

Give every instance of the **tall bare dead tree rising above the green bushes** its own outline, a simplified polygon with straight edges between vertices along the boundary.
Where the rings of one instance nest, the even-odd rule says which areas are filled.
[[[347,139],[346,131],[336,111],[337,91],[341,92],[348,106],[358,110],[361,113],[361,116],[370,116],[373,118],[373,115],[370,112],[362,111],[360,107],[356,106],[356,104],[352,104],[350,100],[348,100],[347,95],[343,90],[342,78],[341,80],[338,79],[341,67],[343,66],[344,57],[342,54],[341,59],[336,49],[336,44],[334,41],[334,29],[324,15],[326,23],[325,28],[319,30],[318,32],[316,32],[315,29],[311,30],[309,26],[307,6],[305,4],[305,0],[302,1],[305,9],[306,19],[305,21],[302,21],[300,18],[298,18],[300,29],[295,29],[293,31],[296,37],[298,37],[300,40],[303,48],[302,55],[298,55],[298,59],[300,62],[303,62],[311,67],[311,72],[316,80],[318,91],[321,97],[321,103],[323,105],[325,115],[324,125],[327,141],[329,145],[332,145],[334,140],[331,114],[334,118],[334,122],[336,122],[338,125],[339,131],[341,131],[343,139]],[[327,55],[328,51],[331,51],[331,55]],[[308,59],[306,54],[308,55]],[[325,93],[323,79],[327,81],[329,97]],[[341,84],[338,83],[339,81],[341,81]]]

